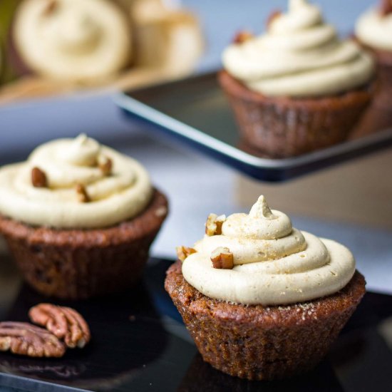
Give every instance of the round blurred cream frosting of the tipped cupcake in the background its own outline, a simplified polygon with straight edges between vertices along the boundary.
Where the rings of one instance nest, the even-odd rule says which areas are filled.
[[[128,21],[108,0],[25,0],[14,29],[26,63],[53,78],[103,78],[130,58]]]

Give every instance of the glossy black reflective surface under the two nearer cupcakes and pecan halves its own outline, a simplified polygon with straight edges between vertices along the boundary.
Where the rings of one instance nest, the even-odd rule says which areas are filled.
[[[8,261],[0,258],[0,272]],[[366,294],[329,356],[313,371],[283,381],[246,381],[202,361],[163,289],[170,262],[151,260],[132,292],[91,301],[62,302],[86,317],[93,340],[63,359],[0,353],[0,385],[28,391],[392,391],[392,297]],[[8,268],[8,267],[6,267]],[[11,278],[9,278],[11,279]],[[14,274],[17,282],[17,275]],[[1,297],[7,298],[1,291]],[[22,286],[1,301],[3,319],[28,321],[47,299]],[[389,328],[389,329],[388,329]],[[392,335],[389,335],[392,336]]]

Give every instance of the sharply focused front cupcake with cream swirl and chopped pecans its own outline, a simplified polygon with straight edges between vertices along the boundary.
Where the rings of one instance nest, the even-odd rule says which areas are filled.
[[[263,196],[249,215],[210,215],[206,233],[165,279],[204,361],[249,380],[314,367],[365,294],[349,249],[293,228]]]

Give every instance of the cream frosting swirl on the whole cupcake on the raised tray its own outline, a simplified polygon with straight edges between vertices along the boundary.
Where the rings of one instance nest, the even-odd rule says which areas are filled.
[[[362,86],[373,76],[371,56],[354,41],[340,41],[318,6],[290,0],[264,35],[234,43],[225,69],[266,96],[326,96]]]

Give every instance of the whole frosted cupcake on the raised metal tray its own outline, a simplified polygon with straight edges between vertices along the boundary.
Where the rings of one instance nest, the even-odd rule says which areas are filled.
[[[271,158],[340,143],[371,101],[371,56],[341,41],[305,0],[290,0],[262,36],[238,36],[222,61],[220,85],[242,138]]]

